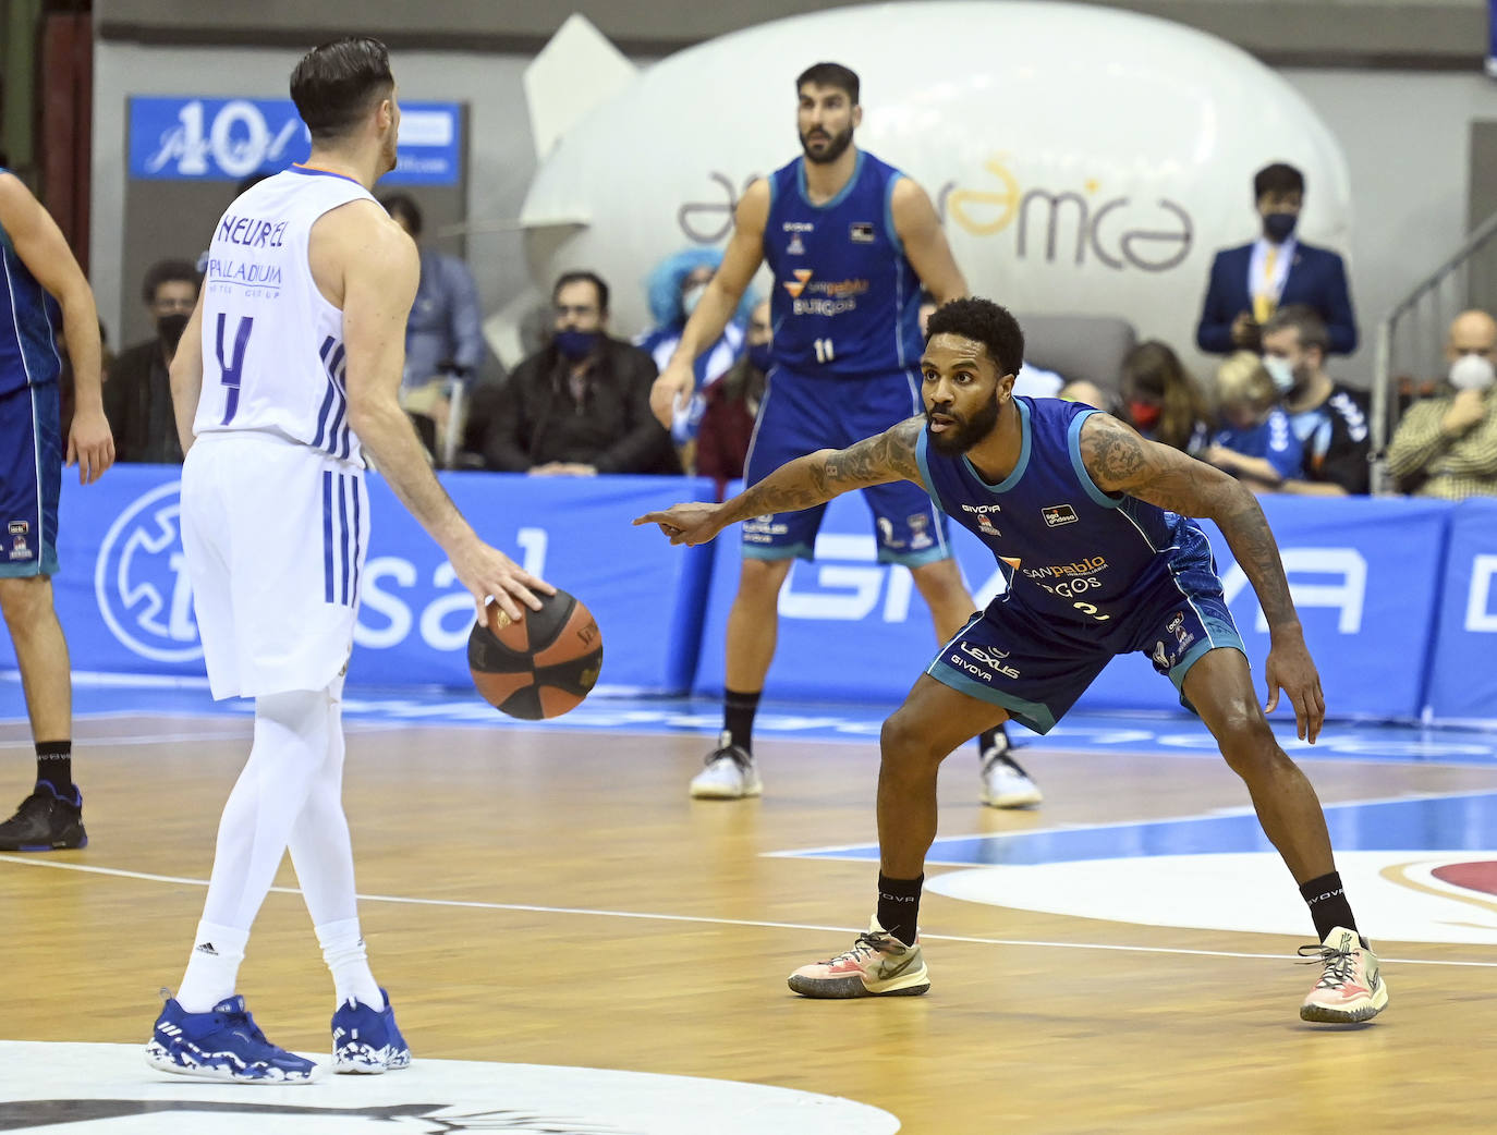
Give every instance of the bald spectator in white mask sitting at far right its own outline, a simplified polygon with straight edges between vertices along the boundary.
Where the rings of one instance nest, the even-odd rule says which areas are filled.
[[[1463,500],[1497,496],[1497,320],[1463,311],[1451,323],[1448,385],[1409,407],[1388,446],[1400,490]]]

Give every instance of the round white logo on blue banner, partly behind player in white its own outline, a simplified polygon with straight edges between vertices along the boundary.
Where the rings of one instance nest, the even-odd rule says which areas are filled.
[[[120,642],[153,662],[202,657],[181,545],[181,481],[136,497],[109,526],[94,565],[94,597]]]

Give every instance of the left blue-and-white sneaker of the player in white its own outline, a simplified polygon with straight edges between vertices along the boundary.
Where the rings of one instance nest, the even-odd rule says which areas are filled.
[[[174,997],[156,1018],[145,1063],[162,1072],[237,1084],[310,1084],[317,1066],[265,1039],[244,997],[226,997],[210,1012],[187,1012]]]

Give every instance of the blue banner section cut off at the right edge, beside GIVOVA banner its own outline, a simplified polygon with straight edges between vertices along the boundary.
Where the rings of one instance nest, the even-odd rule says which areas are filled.
[[[1442,597],[1430,710],[1440,720],[1497,717],[1497,500],[1455,506]]]

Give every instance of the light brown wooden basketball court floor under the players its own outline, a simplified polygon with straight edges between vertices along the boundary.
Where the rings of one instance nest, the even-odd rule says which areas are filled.
[[[249,737],[249,720],[228,717],[79,722],[91,845],[0,856],[0,1038],[144,1044],[157,987],[181,976]],[[0,744],[19,788],[25,726],[0,728]],[[1497,1125],[1490,946],[1398,943],[1364,925],[1392,1005],[1370,1026],[1328,1029],[1296,1012],[1313,978],[1289,955],[1313,937],[1308,915],[1286,937],[928,894],[928,996],[796,997],[789,970],[867,924],[876,867],[771,853],[873,842],[877,755],[871,743],[757,750],[763,800],[693,803],[695,735],[350,726],[364,928],[418,1060],[774,1084],[883,1108],[915,1135]],[[972,756],[948,761],[942,834],[1247,803],[1213,761],[1030,753],[1046,803],[1024,813],[981,807]],[[1497,788],[1491,767],[1305,768],[1326,803]],[[295,886],[289,862],[280,883]],[[1283,885],[1293,895],[1287,873]],[[299,895],[271,894],[241,975],[274,1041],[326,1048],[331,981]]]

